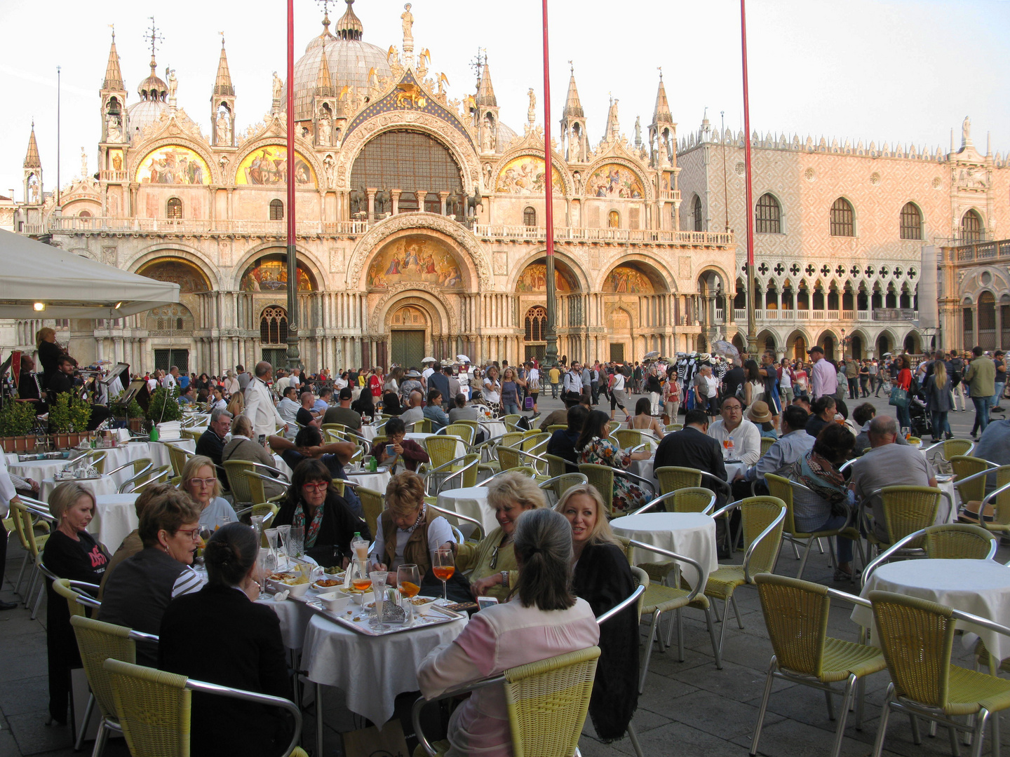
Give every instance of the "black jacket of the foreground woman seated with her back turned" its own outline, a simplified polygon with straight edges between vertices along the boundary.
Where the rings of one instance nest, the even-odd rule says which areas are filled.
[[[237,588],[207,585],[174,600],[160,637],[162,670],[291,698],[281,622]],[[193,757],[276,757],[291,734],[283,711],[214,694],[194,692],[191,718]]]

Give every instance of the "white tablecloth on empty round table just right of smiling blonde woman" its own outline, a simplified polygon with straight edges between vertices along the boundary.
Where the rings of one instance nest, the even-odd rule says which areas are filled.
[[[618,536],[651,544],[677,554],[697,560],[708,573],[719,567],[715,546],[715,521],[701,513],[642,513],[615,518],[610,527]],[[666,555],[635,549],[635,564],[642,562],[664,562]],[[684,577],[694,586],[697,571],[691,565],[682,564]]]

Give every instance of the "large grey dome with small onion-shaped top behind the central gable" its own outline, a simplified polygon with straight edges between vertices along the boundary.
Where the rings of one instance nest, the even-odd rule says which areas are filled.
[[[354,1],[346,0],[347,10],[336,22],[336,34],[330,33],[329,18],[324,18],[322,33],[308,43],[305,55],[295,62],[296,121],[312,118],[312,96],[323,50],[337,95],[345,86],[366,94],[372,69],[380,78],[392,76],[387,50],[362,40],[364,26],[351,7]]]

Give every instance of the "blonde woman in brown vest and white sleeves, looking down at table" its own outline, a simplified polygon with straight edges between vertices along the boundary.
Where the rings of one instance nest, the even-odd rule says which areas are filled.
[[[404,563],[417,565],[423,580],[430,572],[434,553],[453,541],[448,521],[428,510],[424,481],[417,473],[405,470],[390,478],[372,554],[376,569],[389,571],[389,583],[396,583],[396,569]]]

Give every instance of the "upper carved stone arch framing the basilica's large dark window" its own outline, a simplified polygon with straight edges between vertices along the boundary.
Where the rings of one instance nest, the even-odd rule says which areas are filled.
[[[474,145],[457,129],[446,129],[445,123],[427,113],[419,111],[399,111],[396,113],[381,113],[364,121],[343,140],[336,153],[336,188],[346,189],[350,181],[350,168],[365,148],[367,142],[386,131],[418,131],[436,139],[448,148],[449,153],[460,167],[461,181],[464,193],[472,195],[479,186],[481,177],[481,161],[478,159]]]

